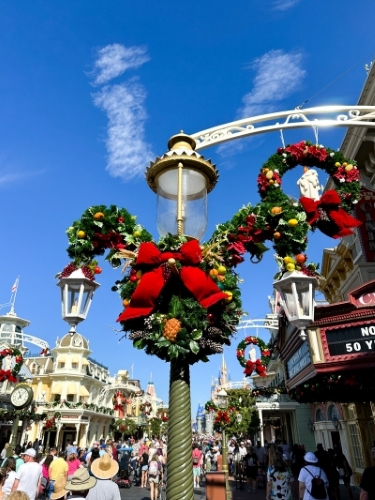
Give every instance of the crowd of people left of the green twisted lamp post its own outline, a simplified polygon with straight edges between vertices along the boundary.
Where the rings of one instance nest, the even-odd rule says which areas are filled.
[[[113,479],[130,473],[141,488],[149,485],[151,500],[156,500],[159,483],[165,482],[167,453],[161,440],[102,439],[90,448],[79,448],[76,442],[67,441],[64,450],[51,447],[47,455],[39,452],[40,444],[31,445],[25,450],[17,445],[8,458],[9,446],[4,446],[0,500],[37,500],[40,495],[63,500],[69,492],[74,492],[75,498],[120,500]],[[80,496],[76,496],[77,492]]]

